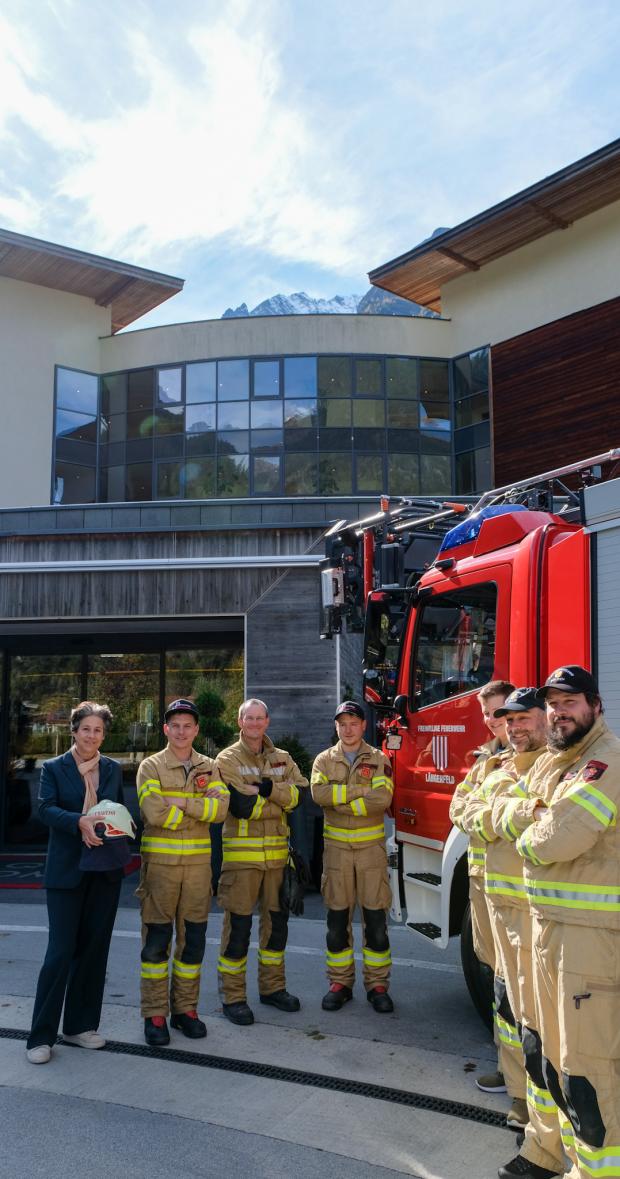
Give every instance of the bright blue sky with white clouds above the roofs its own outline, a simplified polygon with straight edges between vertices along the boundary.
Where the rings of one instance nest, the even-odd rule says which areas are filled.
[[[0,0],[0,226],[184,278],[140,328],[362,295],[615,139],[619,44],[616,0]]]

